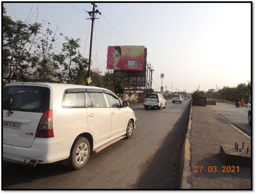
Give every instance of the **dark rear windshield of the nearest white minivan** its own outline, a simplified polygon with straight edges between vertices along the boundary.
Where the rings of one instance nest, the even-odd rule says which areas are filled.
[[[40,86],[6,86],[3,90],[3,109],[24,112],[49,110],[50,89]]]

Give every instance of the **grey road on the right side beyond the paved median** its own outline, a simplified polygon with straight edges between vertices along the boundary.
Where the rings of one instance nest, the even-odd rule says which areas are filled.
[[[235,125],[241,131],[251,136],[251,125],[248,124],[248,110],[246,107],[236,108],[235,104],[217,102],[215,105],[207,105],[220,114],[223,118]]]

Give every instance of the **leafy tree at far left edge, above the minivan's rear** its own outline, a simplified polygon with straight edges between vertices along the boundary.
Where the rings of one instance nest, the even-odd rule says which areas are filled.
[[[28,22],[14,22],[3,7],[3,73],[8,74],[8,83],[26,81],[30,64],[36,60],[30,51],[41,24]]]

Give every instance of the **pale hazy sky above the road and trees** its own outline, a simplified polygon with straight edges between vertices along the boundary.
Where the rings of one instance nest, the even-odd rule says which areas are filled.
[[[5,3],[7,15],[23,21],[32,5]],[[130,45],[147,47],[147,62],[155,69],[155,91],[160,91],[160,73],[165,74],[163,85],[167,85],[167,90],[171,90],[173,82],[173,91],[178,87],[178,90],[192,92],[199,84],[200,89],[207,91],[216,84],[222,88],[250,80],[249,3],[96,5],[102,16],[98,15],[100,19],[95,22],[92,56],[98,63],[93,58],[92,68],[98,66],[102,72],[106,71],[107,46],[128,45],[126,40]],[[59,32],[64,36],[81,38],[80,51],[88,57],[90,33],[88,41],[86,37],[90,20],[82,9],[91,11],[90,7],[90,3],[39,3],[38,21],[50,22],[52,30],[59,25]],[[36,20],[36,8],[35,3],[31,21]],[[59,39],[60,43],[64,36]]]

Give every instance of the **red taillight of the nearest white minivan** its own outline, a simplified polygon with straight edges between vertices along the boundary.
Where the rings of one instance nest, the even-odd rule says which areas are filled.
[[[41,117],[38,124],[36,137],[49,138],[54,137],[52,127],[52,110],[47,110]]]

